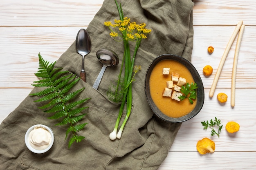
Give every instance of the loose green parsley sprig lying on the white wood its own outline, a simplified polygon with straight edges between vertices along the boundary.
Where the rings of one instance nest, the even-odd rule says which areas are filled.
[[[222,123],[219,119],[217,119],[215,117],[215,119],[211,119],[210,122],[208,120],[207,121],[202,121],[201,124],[202,124],[202,126],[204,126],[205,130],[207,128],[211,128],[211,136],[217,135],[218,137],[220,137],[220,131],[221,131],[223,125],[220,125]],[[214,127],[216,127],[216,126],[217,126],[218,131],[216,131],[214,129]]]

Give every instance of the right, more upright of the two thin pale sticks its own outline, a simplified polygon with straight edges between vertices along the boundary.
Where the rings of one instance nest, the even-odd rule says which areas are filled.
[[[231,79],[231,107],[235,106],[236,68],[237,68],[238,53],[239,53],[244,30],[245,30],[245,25],[242,25],[238,33],[238,38],[236,42],[236,49],[235,49],[233,69],[232,69],[232,79]]]

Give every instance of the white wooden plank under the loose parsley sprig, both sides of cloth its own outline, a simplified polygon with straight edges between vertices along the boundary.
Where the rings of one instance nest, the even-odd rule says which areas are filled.
[[[25,97],[30,93],[30,88],[0,88],[0,122],[9,115]],[[216,100],[216,95],[224,92],[230,96],[230,89],[217,89],[213,99],[209,99],[209,89],[205,90],[205,102],[202,110],[192,119],[183,122],[174,140],[171,152],[196,152],[196,143],[204,137],[209,137],[216,142],[216,151],[256,151],[256,117],[254,116],[254,96],[256,89],[237,89],[236,105],[230,106],[230,100],[222,105]],[[244,97],[246,96],[246,97]],[[214,107],[213,107],[214,106]],[[233,135],[226,132],[225,127],[217,136],[211,137],[210,130],[203,130],[201,121],[217,117],[223,126],[228,121],[236,121],[240,124],[240,130]]]

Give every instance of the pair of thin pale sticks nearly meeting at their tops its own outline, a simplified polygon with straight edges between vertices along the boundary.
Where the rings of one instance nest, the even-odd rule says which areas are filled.
[[[213,97],[218,79],[220,77],[220,72],[221,72],[222,67],[225,63],[225,60],[227,58],[227,54],[229,53],[229,50],[230,50],[230,48],[231,48],[231,46],[232,46],[232,44],[233,44],[233,42],[236,38],[236,35],[238,34],[236,49],[235,49],[235,54],[234,54],[233,69],[232,69],[232,79],[231,79],[231,107],[235,106],[236,67],[237,67],[238,53],[239,53],[240,44],[241,44],[241,41],[242,41],[244,29],[245,29],[245,25],[243,25],[243,21],[239,21],[238,24],[236,25],[236,29],[234,30],[233,34],[231,35],[231,38],[229,39],[227,47],[226,47],[226,49],[225,49],[225,51],[222,55],[222,58],[220,60],[220,64],[219,64],[218,69],[216,71],[216,75],[213,79],[213,84],[211,85],[211,89],[210,89],[210,92],[209,92],[209,97]]]

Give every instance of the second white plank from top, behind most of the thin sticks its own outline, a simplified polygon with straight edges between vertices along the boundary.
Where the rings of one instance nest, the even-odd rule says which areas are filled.
[[[38,68],[38,53],[51,62],[58,60],[74,42],[81,27],[1,27],[0,28],[0,87],[31,88]],[[86,28],[86,27],[84,27]],[[210,88],[214,73],[234,26],[194,26],[192,63],[197,68],[205,88]],[[237,88],[254,88],[256,84],[256,26],[246,26],[238,56]],[[236,40],[231,47],[217,88],[231,87],[232,63]],[[209,55],[207,47],[213,46]],[[210,64],[213,75],[204,77],[202,68]],[[246,82],[246,84],[245,84]]]

